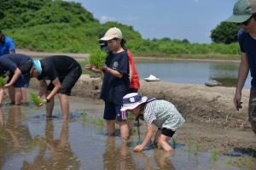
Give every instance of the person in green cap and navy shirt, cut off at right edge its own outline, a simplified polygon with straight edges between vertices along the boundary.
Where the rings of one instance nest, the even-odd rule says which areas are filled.
[[[241,29],[238,42],[241,50],[241,63],[238,71],[234,104],[236,110],[241,108],[241,89],[250,71],[252,88],[249,98],[248,116],[253,133],[256,134],[256,0],[238,0],[228,22],[234,22]]]

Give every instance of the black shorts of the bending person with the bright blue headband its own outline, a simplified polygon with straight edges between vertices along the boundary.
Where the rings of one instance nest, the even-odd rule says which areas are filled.
[[[59,77],[61,82],[61,90],[59,94],[71,95],[71,90],[75,83],[79,80],[79,77],[82,74],[82,69],[79,66],[75,67],[73,71],[70,71],[66,77]],[[55,88],[55,85],[52,82],[49,82],[47,87],[48,91],[52,91]]]

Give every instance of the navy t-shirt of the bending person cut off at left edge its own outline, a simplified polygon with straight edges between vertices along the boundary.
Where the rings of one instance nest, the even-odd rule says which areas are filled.
[[[26,65],[28,60],[32,58],[25,54],[4,54],[0,57],[0,66],[3,71],[10,71],[13,74],[17,68]]]

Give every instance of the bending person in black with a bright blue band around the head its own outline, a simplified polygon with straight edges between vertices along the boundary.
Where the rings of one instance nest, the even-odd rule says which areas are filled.
[[[79,63],[65,55],[53,55],[40,60],[34,60],[30,77],[37,77],[40,82],[38,96],[45,96],[47,117],[52,116],[54,96],[59,94],[63,120],[68,119],[69,104],[67,96],[82,74]],[[47,84],[46,80],[49,80]],[[42,104],[43,105],[43,104]]]

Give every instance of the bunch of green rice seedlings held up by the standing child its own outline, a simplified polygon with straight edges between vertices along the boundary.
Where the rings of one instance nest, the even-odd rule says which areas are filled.
[[[107,57],[107,53],[102,50],[97,50],[96,53],[90,54],[89,62],[91,66],[95,66],[96,68],[101,68],[105,65],[105,60]]]

